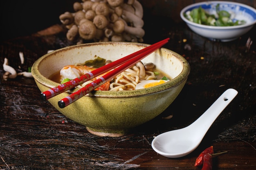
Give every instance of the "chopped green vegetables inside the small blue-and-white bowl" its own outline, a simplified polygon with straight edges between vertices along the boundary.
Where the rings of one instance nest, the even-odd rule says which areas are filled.
[[[231,19],[231,14],[228,11],[220,10],[220,4],[216,6],[216,13],[218,18],[215,15],[207,13],[202,7],[194,8],[191,11],[184,13],[184,16],[191,22],[195,22],[203,25],[210,26],[235,26],[245,24],[245,20],[237,20],[233,22]]]

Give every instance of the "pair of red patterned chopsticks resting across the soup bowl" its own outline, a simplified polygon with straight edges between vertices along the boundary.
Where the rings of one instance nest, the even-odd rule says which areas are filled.
[[[159,41],[155,44],[152,44],[144,49],[141,49],[139,51],[136,51],[135,53],[132,53],[130,55],[127,55],[126,57],[123,57],[119,60],[116,60],[115,62],[111,62],[110,64],[107,64],[105,66],[101,66],[100,68],[95,69],[94,71],[91,71],[89,73],[86,73],[80,77],[77,77],[75,79],[70,80],[69,82],[65,82],[59,86],[56,86],[54,88],[51,88],[43,93],[41,93],[41,98],[43,100],[50,99],[60,93],[63,93],[67,90],[70,90],[80,84],[83,84],[84,82],[93,79],[94,77],[97,77],[107,71],[110,71],[109,73],[103,75],[99,79],[93,81],[90,84],[87,84],[83,88],[79,89],[78,91],[70,94],[69,96],[61,99],[58,102],[58,106],[60,108],[64,108],[65,106],[71,104],[72,102],[76,101],[77,99],[83,97],[84,95],[90,93],[95,88],[101,86],[105,82],[108,82],[110,79],[115,77],[116,75],[120,74],[121,72],[125,71],[127,68],[133,66],[140,60],[142,60],[144,57],[149,55],[150,53],[153,53],[155,50],[162,47],[164,44],[168,42],[170,38],[166,38],[162,41]]]

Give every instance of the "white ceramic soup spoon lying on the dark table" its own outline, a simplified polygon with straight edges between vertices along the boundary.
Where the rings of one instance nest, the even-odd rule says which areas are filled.
[[[237,94],[236,90],[232,88],[227,89],[191,125],[182,129],[164,132],[155,137],[152,141],[152,148],[155,152],[168,158],[179,158],[188,155],[198,147],[215,119]]]

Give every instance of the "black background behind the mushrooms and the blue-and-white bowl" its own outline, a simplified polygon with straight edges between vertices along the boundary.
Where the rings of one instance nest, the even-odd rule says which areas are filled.
[[[181,22],[182,8],[202,1],[205,0],[139,0],[144,7],[144,16],[160,15],[175,22]],[[256,0],[229,1],[241,2],[256,8]],[[61,24],[58,16],[66,11],[74,12],[74,2],[82,2],[82,0],[1,0],[0,40],[29,35],[53,24]]]

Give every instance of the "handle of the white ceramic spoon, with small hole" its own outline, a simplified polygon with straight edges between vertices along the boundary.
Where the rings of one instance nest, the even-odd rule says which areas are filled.
[[[193,124],[189,125],[189,128],[195,128],[196,132],[201,134],[203,138],[215,119],[237,94],[238,91],[235,89],[227,89],[196,121],[193,122]]]

